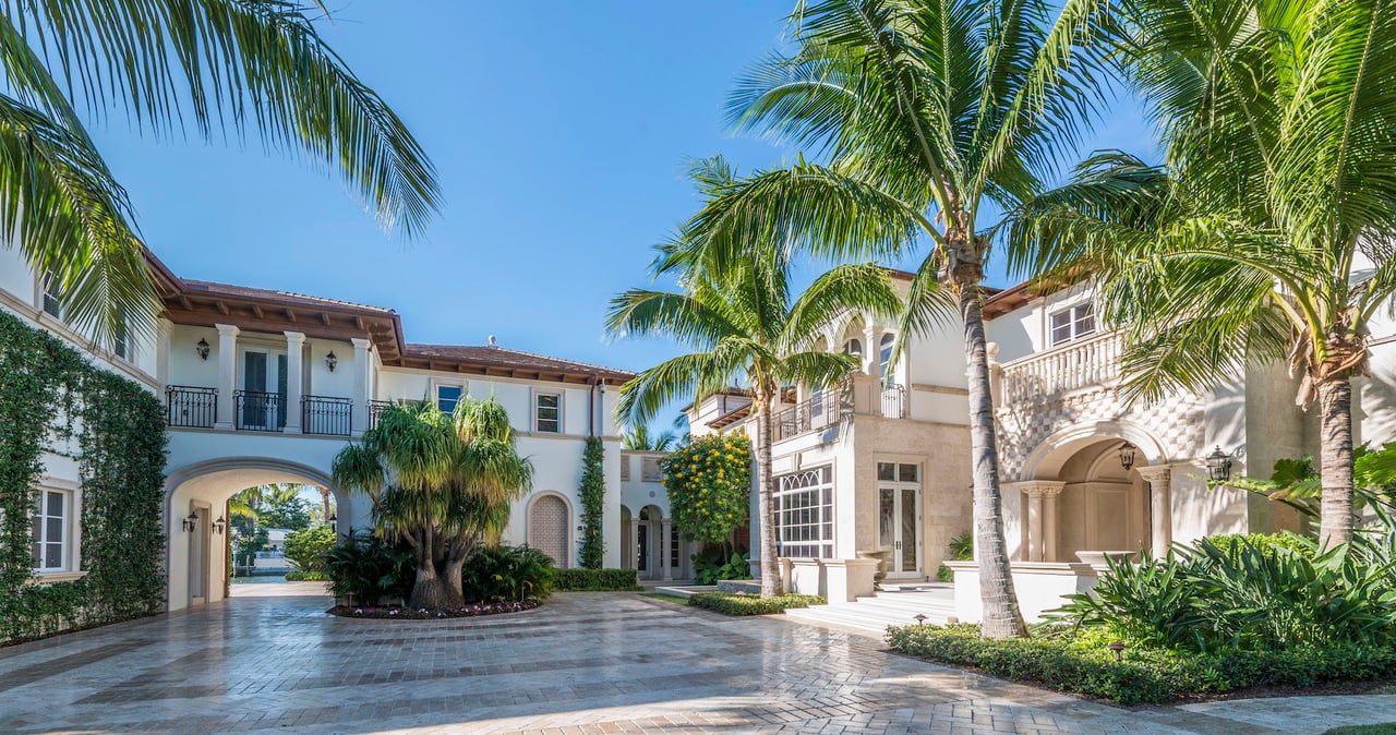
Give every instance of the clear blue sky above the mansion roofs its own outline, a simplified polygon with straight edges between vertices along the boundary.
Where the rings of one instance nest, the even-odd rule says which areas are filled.
[[[659,340],[609,343],[607,300],[648,283],[651,247],[698,201],[685,160],[793,155],[727,134],[736,74],[780,42],[793,0],[332,4],[324,36],[431,155],[445,208],[388,240],[324,170],[260,142],[95,135],[147,243],[179,275],[384,305],[409,342],[501,346],[641,370]],[[1086,148],[1148,151],[1121,105]],[[995,285],[1005,285],[1002,276]],[[667,421],[667,420],[666,420]]]

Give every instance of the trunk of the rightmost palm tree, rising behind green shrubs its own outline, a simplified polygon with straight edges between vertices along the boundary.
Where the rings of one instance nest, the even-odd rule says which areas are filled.
[[[1346,375],[1318,384],[1319,474],[1323,485],[1318,543],[1353,540],[1353,382]]]

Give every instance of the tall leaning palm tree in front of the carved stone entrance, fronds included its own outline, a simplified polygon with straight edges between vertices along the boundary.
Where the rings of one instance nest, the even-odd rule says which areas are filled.
[[[983,630],[1023,636],[1004,541],[981,315],[991,240],[986,208],[1039,190],[1099,102],[1089,38],[1096,0],[819,0],[792,17],[789,54],[758,63],[730,100],[733,123],[817,149],[729,185],[678,236],[666,266],[722,269],[758,244],[832,258],[927,247],[907,297],[905,347],[963,322]],[[1069,61],[1069,63],[1068,63]],[[991,211],[991,209],[988,209]],[[685,265],[687,264],[687,265]]]

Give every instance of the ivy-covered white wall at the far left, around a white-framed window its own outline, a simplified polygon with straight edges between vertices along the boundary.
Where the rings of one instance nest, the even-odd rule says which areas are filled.
[[[0,311],[0,643],[165,609],[165,446],[154,393]],[[87,572],[53,584],[31,555],[45,452],[78,463]]]

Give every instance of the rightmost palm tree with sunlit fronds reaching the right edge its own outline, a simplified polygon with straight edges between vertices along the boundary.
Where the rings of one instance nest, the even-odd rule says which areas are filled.
[[[1318,399],[1323,544],[1353,534],[1351,379],[1396,294],[1396,7],[1115,3],[1104,24],[1163,132],[1161,166],[1086,162],[1009,229],[1034,269],[1082,264],[1135,395],[1286,360]]]

